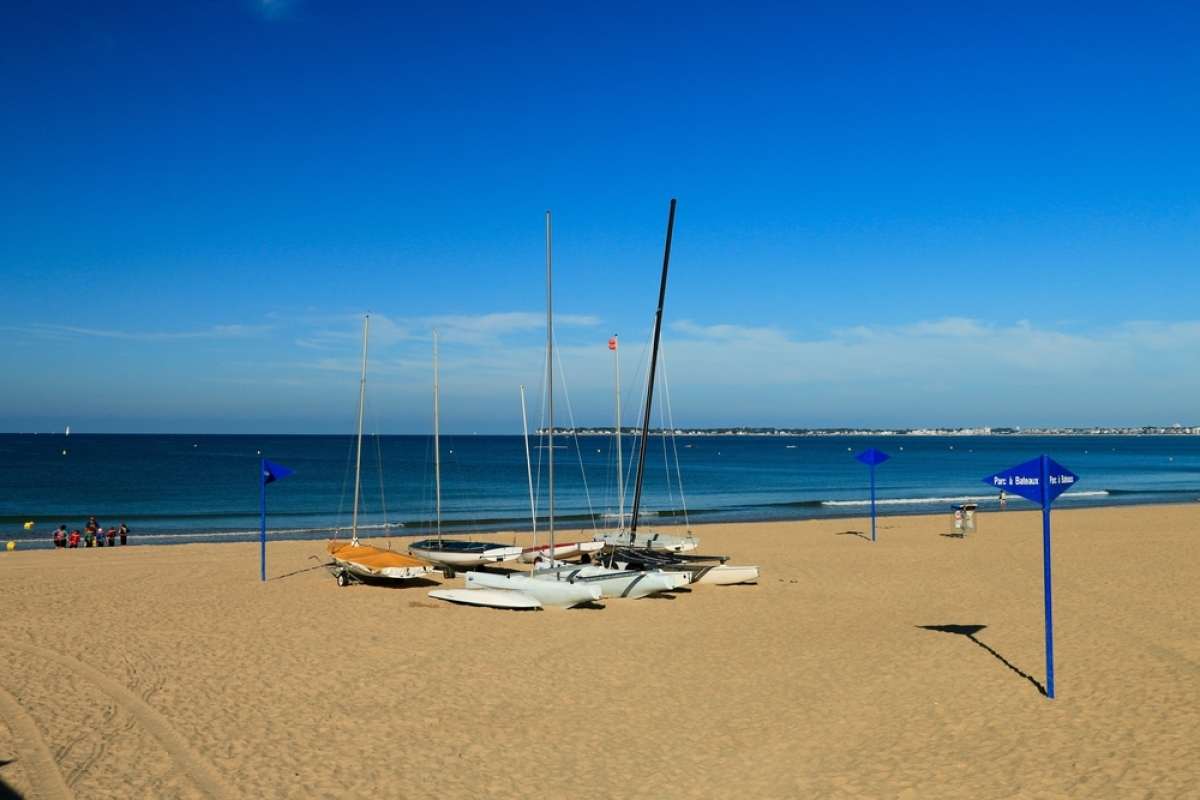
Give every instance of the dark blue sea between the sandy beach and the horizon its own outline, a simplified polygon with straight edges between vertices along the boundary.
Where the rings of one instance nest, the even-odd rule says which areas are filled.
[[[270,539],[347,535],[355,444],[350,435],[0,434],[0,539],[50,547],[55,528],[82,530],[94,516],[106,528],[126,523],[131,545],[251,541],[264,494]],[[556,433],[556,530],[590,536],[628,517],[637,445],[623,437],[618,469],[614,437]],[[983,479],[1043,453],[1080,476],[1055,509],[1200,501],[1198,435],[652,434],[640,528],[865,518],[870,468],[853,456],[870,447],[890,456],[876,468],[880,515],[996,509]],[[527,458],[521,435],[443,434],[439,473],[432,437],[364,437],[359,530],[545,530],[548,456],[542,438],[530,437]],[[294,474],[264,492],[262,459]],[[1010,495],[1008,507],[1036,506]]]

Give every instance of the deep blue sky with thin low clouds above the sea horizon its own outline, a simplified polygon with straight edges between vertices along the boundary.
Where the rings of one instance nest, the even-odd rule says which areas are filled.
[[[518,432],[547,209],[607,423],[673,197],[677,425],[1200,423],[1195,4],[4,17],[2,431]]]

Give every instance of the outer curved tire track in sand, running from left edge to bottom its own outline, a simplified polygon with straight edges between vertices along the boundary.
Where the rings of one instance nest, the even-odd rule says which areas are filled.
[[[216,768],[214,768],[199,751],[188,744],[188,741],[174,728],[174,726],[172,726],[170,721],[167,720],[162,712],[146,704],[142,698],[120,682],[104,675],[96,674],[94,670],[85,669],[82,663],[71,656],[55,650],[37,646],[36,644],[28,644],[25,642],[14,642],[12,639],[2,638],[0,639],[0,645],[32,654],[71,670],[83,680],[90,681],[92,685],[116,700],[116,704],[121,709],[127,711],[130,716],[137,720],[138,724],[157,739],[158,744],[163,746],[163,750],[166,750],[170,757],[175,759],[179,766],[184,770],[184,774],[187,775],[198,789],[211,798],[240,796],[238,792],[224,782]],[[20,706],[18,705],[17,708],[19,709]],[[22,714],[24,714],[24,711],[22,711]],[[36,724],[34,726],[34,732],[37,733]],[[37,733],[37,739],[41,740],[41,733]],[[42,740],[42,745],[44,747],[44,740]],[[46,750],[46,753],[49,756],[48,748]],[[50,757],[50,764],[53,765],[53,763],[54,759]],[[54,768],[54,772],[55,775],[59,775],[56,766]],[[61,775],[59,775],[59,778],[61,780]],[[62,788],[64,790],[67,790],[65,784]],[[72,795],[66,794],[53,796],[70,798]]]

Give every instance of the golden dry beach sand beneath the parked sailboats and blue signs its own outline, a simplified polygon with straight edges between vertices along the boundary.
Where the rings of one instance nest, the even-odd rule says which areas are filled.
[[[706,527],[702,551],[761,565],[757,585],[533,613],[337,588],[318,542],[271,543],[266,583],[254,545],[0,553],[0,781],[26,798],[1200,796],[1200,506],[1054,523],[1054,700],[1037,512],[980,515],[965,540],[948,515],[881,519],[875,543],[848,533],[862,519]]]

